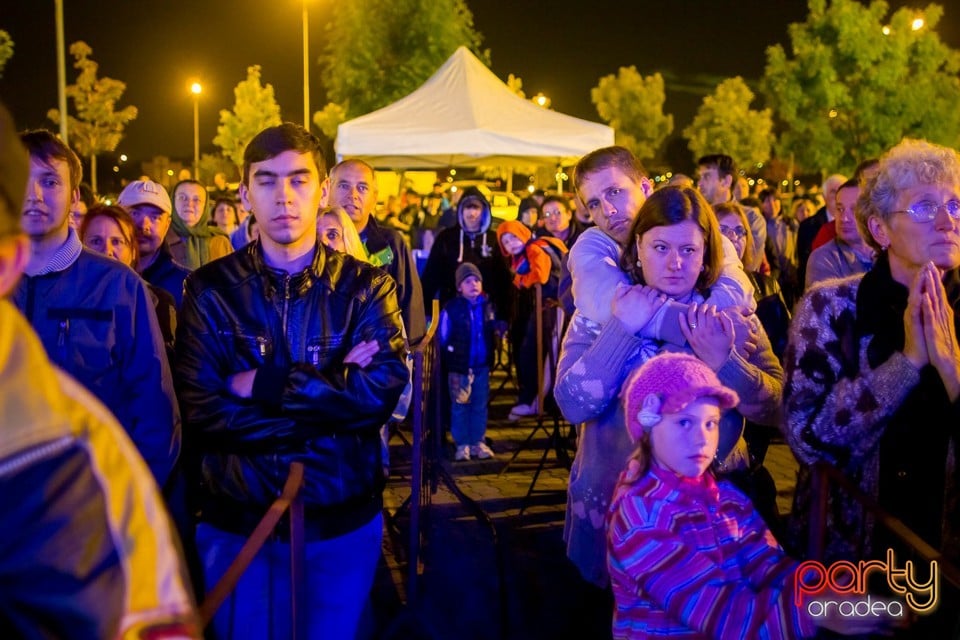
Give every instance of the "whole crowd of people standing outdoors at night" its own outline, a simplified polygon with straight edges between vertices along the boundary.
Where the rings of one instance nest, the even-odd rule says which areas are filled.
[[[907,622],[795,601],[818,462],[960,560],[955,151],[904,140],[830,176],[822,206],[786,206],[751,195],[724,154],[655,188],[607,147],[580,159],[573,198],[534,193],[502,221],[478,188],[440,183],[378,211],[374,167],[328,173],[290,123],[249,143],[236,194],[144,178],[115,205],[84,202],[76,154],[0,115],[0,483],[23,494],[0,547],[0,582],[18,585],[0,587],[3,626],[197,637],[192,594],[299,462],[307,625],[354,637],[380,554],[386,425],[436,322],[455,461],[497,455],[503,352],[510,419],[548,399],[576,425],[564,540],[612,593],[614,637],[956,628],[947,590]],[[789,517],[765,468],[778,436],[800,463]],[[818,560],[909,554],[849,494],[828,498]],[[266,542],[216,637],[289,636],[290,536]],[[68,538],[97,546],[78,559]]]

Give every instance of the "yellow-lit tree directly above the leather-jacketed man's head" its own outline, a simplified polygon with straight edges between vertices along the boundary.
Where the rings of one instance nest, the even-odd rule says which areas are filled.
[[[247,79],[233,88],[236,99],[233,111],[220,110],[220,124],[213,144],[223,156],[240,169],[247,143],[267,127],[280,124],[280,105],[273,95],[273,85],[260,84],[260,65],[247,67]]]

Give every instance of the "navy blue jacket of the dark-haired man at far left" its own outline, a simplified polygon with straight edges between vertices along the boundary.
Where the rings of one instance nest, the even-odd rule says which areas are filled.
[[[84,249],[62,271],[24,276],[13,302],[54,364],[113,412],[162,486],[180,451],[180,415],[146,283]]]

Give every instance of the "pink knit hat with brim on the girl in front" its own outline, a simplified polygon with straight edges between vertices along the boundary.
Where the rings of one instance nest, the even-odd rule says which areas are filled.
[[[721,410],[737,406],[737,392],[720,383],[702,360],[684,353],[663,353],[647,360],[627,380],[623,410],[635,441],[666,413],[676,413],[703,397],[715,398]]]

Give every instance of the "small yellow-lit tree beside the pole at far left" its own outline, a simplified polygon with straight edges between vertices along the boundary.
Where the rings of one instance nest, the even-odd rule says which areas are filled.
[[[113,78],[98,78],[98,64],[90,59],[93,49],[86,42],[70,45],[70,55],[79,69],[77,81],[67,87],[67,98],[73,100],[77,116],[67,115],[70,144],[77,155],[90,160],[90,187],[97,193],[97,155],[116,150],[123,139],[123,129],[137,117],[137,108],[124,107],[115,111],[117,101],[127,85]],[[60,122],[60,110],[50,109],[47,117]]]

